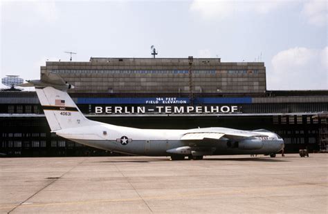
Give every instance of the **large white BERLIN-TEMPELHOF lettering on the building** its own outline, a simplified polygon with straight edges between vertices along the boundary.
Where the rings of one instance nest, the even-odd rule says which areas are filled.
[[[95,106],[95,114],[219,114],[238,112],[238,106]]]

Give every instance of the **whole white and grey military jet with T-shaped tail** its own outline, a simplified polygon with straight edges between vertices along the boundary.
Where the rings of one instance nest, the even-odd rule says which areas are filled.
[[[35,87],[52,133],[79,144],[128,155],[170,156],[172,160],[203,159],[205,155],[275,157],[284,149],[282,137],[265,129],[140,129],[92,121],[67,93],[74,86],[55,72],[46,72],[41,79],[20,86]]]

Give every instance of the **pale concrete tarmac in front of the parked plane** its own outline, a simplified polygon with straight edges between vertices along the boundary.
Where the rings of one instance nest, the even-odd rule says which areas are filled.
[[[0,213],[328,213],[328,155],[0,159]]]

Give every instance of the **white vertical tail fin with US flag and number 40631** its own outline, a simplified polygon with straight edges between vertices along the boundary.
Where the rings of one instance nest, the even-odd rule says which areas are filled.
[[[51,131],[90,126],[96,123],[84,117],[73,99],[65,91],[57,90],[50,86],[35,88],[35,90]]]

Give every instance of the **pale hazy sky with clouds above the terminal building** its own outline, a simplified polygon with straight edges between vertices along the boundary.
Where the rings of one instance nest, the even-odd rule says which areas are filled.
[[[328,1],[0,1],[0,77],[46,61],[264,61],[267,90],[327,90]],[[3,88],[3,85],[0,85]]]

